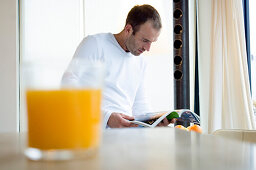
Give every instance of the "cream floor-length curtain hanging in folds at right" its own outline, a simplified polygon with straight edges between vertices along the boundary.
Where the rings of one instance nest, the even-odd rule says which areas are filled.
[[[199,0],[199,87],[202,127],[255,129],[241,0]]]

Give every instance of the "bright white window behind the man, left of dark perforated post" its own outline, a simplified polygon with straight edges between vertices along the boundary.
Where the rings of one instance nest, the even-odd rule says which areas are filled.
[[[151,89],[153,111],[172,109],[172,1],[21,1],[21,63],[49,63],[65,70],[84,36],[118,33],[136,4],[153,5],[161,15],[161,35],[145,54],[150,70],[147,84]],[[21,108],[21,130],[26,129],[23,110]]]

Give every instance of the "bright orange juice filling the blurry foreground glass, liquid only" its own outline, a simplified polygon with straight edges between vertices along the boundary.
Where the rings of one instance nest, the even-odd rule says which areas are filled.
[[[41,150],[99,145],[101,90],[27,90],[28,146]]]

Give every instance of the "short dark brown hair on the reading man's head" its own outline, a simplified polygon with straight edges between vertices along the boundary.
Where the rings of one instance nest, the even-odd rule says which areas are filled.
[[[135,34],[139,30],[140,25],[148,20],[152,21],[155,29],[159,30],[162,28],[160,15],[154,7],[147,4],[136,5],[128,13],[125,25],[131,24],[133,34]]]

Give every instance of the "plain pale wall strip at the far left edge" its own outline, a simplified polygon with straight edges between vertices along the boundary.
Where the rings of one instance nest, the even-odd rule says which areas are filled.
[[[0,0],[0,132],[18,130],[17,0]]]

